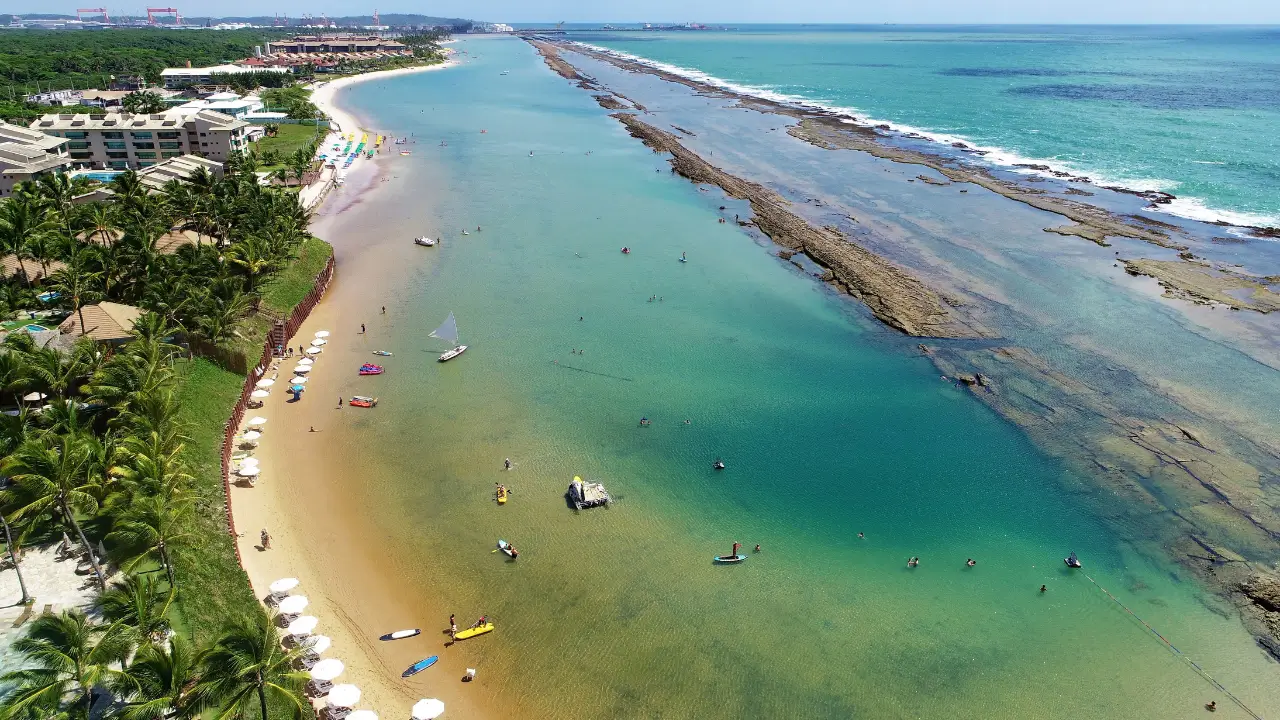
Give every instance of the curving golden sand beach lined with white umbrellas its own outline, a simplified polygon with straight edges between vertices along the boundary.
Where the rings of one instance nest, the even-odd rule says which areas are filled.
[[[456,61],[421,68],[401,68],[342,78],[317,88],[312,101],[329,114],[343,131],[358,127],[353,115],[334,102],[343,87],[397,74],[439,70]],[[347,183],[325,199],[312,225],[314,232],[329,241],[335,250],[337,272],[324,299],[300,328],[291,345],[297,350],[310,342],[320,329],[332,332],[324,352],[316,356],[315,370],[308,375],[307,392],[294,405],[285,402],[285,392],[292,377],[289,370],[297,364],[297,355],[280,363],[276,384],[264,406],[251,410],[268,418],[269,423],[259,442],[255,456],[260,460],[261,479],[256,487],[233,484],[230,501],[242,565],[259,597],[265,597],[268,585],[279,578],[298,578],[296,594],[310,600],[305,615],[319,619],[315,634],[333,639],[325,657],[337,657],[346,664],[344,674],[335,683],[353,683],[362,691],[357,708],[374,710],[384,717],[407,717],[410,708],[420,698],[438,697],[451,714],[483,717],[465,693],[476,683],[463,684],[461,678],[467,667],[475,667],[466,646],[445,656],[443,643],[448,639],[448,611],[424,612],[425,607],[439,607],[430,598],[404,597],[403,587],[394,580],[403,573],[389,559],[371,552],[379,547],[375,539],[381,529],[376,524],[378,510],[353,509],[351,495],[343,483],[360,478],[339,477],[328,466],[329,450],[337,434],[349,436],[349,421],[358,421],[361,413],[355,407],[338,409],[339,395],[349,397],[355,391],[344,387],[355,377],[361,363],[376,360],[364,346],[360,323],[372,325],[379,306],[385,304],[394,313],[392,299],[371,297],[362,286],[362,278],[388,277],[387,268],[404,268],[412,246],[393,241],[370,245],[358,237],[360,227],[344,224],[355,213],[342,211],[352,205],[375,199],[385,174],[380,167],[393,161],[394,155],[383,154],[375,160],[360,160],[351,168]],[[357,243],[357,241],[360,241]],[[389,288],[390,283],[380,286]],[[242,428],[242,430],[246,428]],[[259,533],[266,529],[271,547],[260,546]],[[442,614],[443,612],[443,614]],[[439,615],[439,616],[436,616]],[[460,624],[470,623],[460,616]],[[380,642],[378,638],[393,630],[421,628],[422,634],[401,642]],[[410,680],[401,680],[401,673],[430,655],[442,660],[430,670]],[[428,679],[434,682],[429,683]],[[320,703],[317,703],[319,706]]]

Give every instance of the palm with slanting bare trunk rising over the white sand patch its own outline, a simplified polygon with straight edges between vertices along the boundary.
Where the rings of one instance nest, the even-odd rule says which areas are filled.
[[[88,446],[82,438],[58,436],[47,445],[38,439],[28,441],[4,461],[4,471],[13,486],[0,491],[0,502],[18,506],[9,514],[14,520],[46,512],[60,514],[84,547],[99,587],[105,588],[106,577],[76,520],[76,511],[96,512],[99,507],[93,496],[99,483],[88,474]]]

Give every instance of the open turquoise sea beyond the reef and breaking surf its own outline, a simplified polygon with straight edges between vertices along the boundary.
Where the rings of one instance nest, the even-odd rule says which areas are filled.
[[[1280,224],[1280,29],[796,27],[570,36],[768,97],[844,109],[998,164],[1162,190]]]

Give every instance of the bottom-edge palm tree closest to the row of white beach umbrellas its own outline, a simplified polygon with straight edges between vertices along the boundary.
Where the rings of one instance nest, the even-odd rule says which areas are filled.
[[[192,692],[196,706],[215,710],[212,717],[242,719],[257,701],[268,720],[268,697],[302,717],[310,706],[302,697],[306,675],[292,669],[302,650],[285,651],[273,618],[257,611],[228,628],[200,659],[200,682]]]

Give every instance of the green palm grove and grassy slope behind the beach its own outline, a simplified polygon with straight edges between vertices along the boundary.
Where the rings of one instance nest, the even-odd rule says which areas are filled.
[[[0,676],[0,720],[310,714],[298,651],[280,646],[236,565],[209,459],[221,434],[211,418],[229,405],[220,388],[234,397],[238,379],[202,402],[198,378],[218,370],[183,348],[224,346],[264,299],[297,301],[296,266],[315,275],[308,213],[255,170],[250,156],[159,190],[124,173],[92,202],[50,176],[0,202],[0,251],[49,273],[0,286],[10,309],[46,290],[68,314],[101,300],[145,311],[116,347],[42,347],[22,332],[0,346],[0,404],[14,407],[0,415],[9,560],[38,594],[20,548],[61,538],[99,591],[92,618],[44,614],[14,643],[23,664]],[[193,241],[168,251],[174,232]]]

